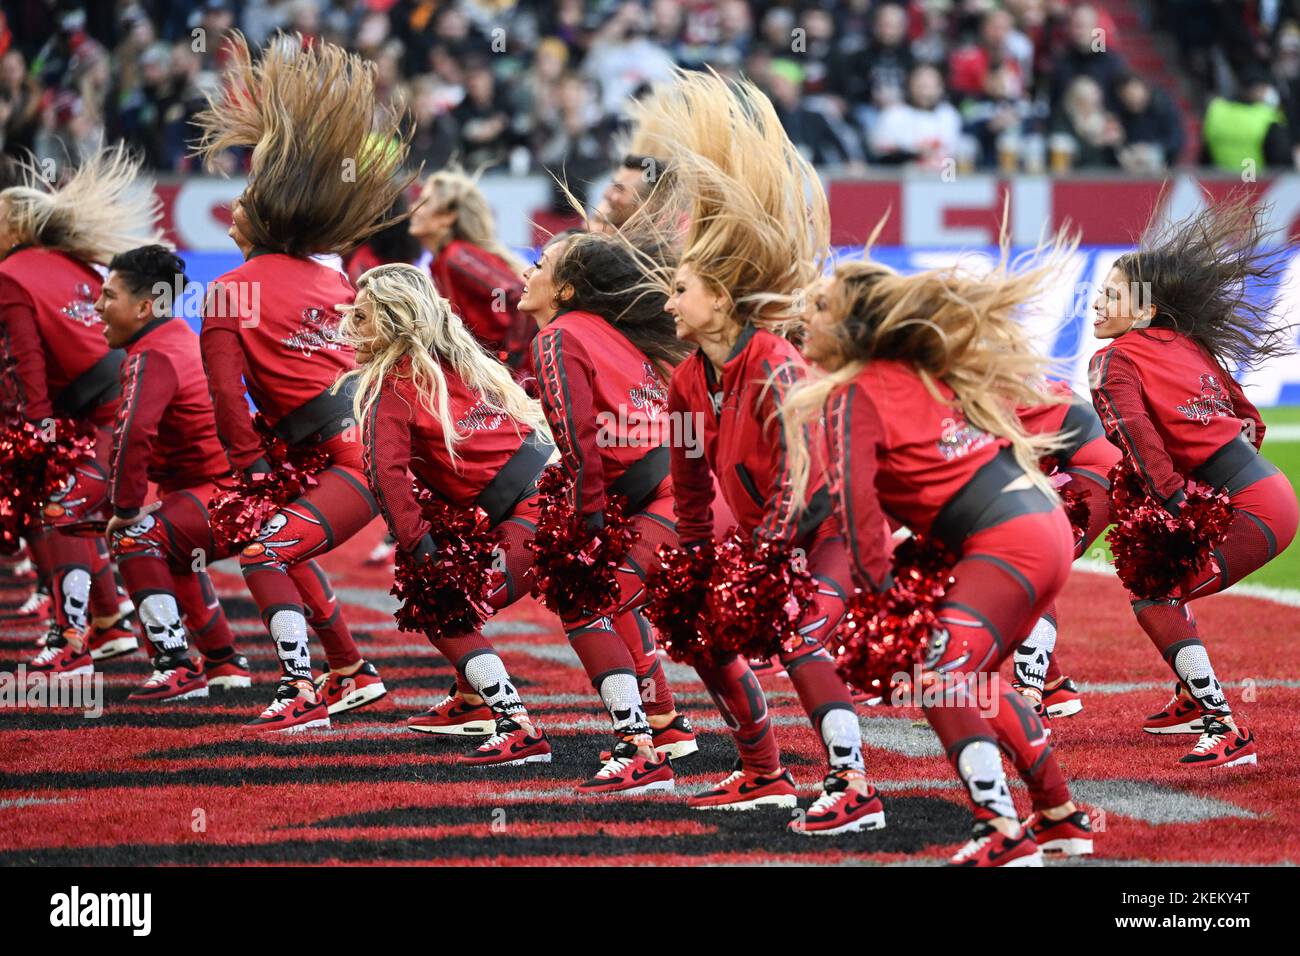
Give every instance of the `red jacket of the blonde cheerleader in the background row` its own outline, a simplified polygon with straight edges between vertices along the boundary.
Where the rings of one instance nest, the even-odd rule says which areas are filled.
[[[497,254],[463,239],[443,246],[429,272],[474,338],[502,362],[519,365],[537,334],[537,324],[519,311],[523,276]]]

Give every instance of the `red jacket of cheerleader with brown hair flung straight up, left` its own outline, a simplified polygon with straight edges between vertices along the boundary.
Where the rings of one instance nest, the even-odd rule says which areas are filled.
[[[208,287],[199,343],[217,434],[237,468],[261,454],[248,397],[274,428],[356,367],[338,338],[338,306],[355,295],[335,269],[278,252],[255,252]]]

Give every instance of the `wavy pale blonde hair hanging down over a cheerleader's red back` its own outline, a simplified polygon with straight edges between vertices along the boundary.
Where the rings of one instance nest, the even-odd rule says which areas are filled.
[[[373,306],[368,334],[358,330],[363,303]],[[456,442],[467,434],[458,431],[451,415],[443,365],[454,369],[489,411],[508,415],[516,432],[528,425],[550,436],[541,403],[529,398],[510,371],[484,350],[451,304],[438,295],[424,269],[406,263],[376,265],[356,280],[356,300],[339,308],[343,338],[370,351],[369,362],[342,376],[333,388],[338,392],[347,381],[356,382],[352,411],[363,429],[384,382],[395,375],[403,359],[410,359],[410,377],[420,405],[442,424],[442,440],[452,462]]]

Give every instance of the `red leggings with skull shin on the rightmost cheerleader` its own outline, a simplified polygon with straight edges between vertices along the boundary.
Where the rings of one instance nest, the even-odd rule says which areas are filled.
[[[1175,601],[1131,597],[1138,623],[1150,637],[1179,682],[1205,710],[1231,713],[1196,627],[1190,601],[1217,594],[1280,554],[1296,536],[1295,489],[1277,473],[1243,488],[1231,497],[1234,518],[1223,544],[1214,549],[1214,564],[1188,576]]]

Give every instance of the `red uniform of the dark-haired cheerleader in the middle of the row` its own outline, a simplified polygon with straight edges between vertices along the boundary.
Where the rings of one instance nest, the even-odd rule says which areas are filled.
[[[664,373],[590,312],[562,312],[537,334],[533,371],[560,460],[573,480],[576,512],[588,524],[599,524],[606,497],[621,494],[641,532],[618,568],[620,596],[612,619],[566,620],[566,631],[593,682],[603,674],[634,672],[646,711],[672,713],[672,691],[654,637],[634,613],[645,604],[645,576],[659,546],[677,544]],[[611,633],[621,640],[608,640]]]

